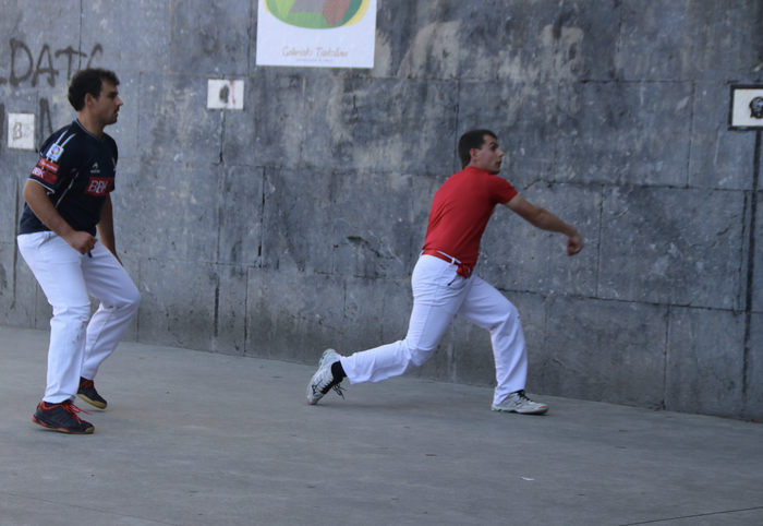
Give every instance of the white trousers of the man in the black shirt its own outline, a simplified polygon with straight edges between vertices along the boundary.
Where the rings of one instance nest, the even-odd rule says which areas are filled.
[[[24,234],[17,241],[53,308],[43,399],[50,404],[73,401],[80,376],[93,380],[117,348],[141,304],[141,295],[117,258],[99,242],[90,258],[53,232]],[[100,301],[93,319],[89,296]]]

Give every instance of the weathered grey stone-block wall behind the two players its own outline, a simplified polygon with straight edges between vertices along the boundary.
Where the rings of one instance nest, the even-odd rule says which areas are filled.
[[[254,0],[0,12],[0,323],[50,316],[14,246],[36,155],[8,148],[7,116],[41,140],[94,64],[125,101],[131,340],[315,363],[403,337],[432,196],[485,127],[504,176],[588,242],[570,259],[506,210],[488,225],[477,272],[522,313],[528,388],[763,418],[755,132],[727,125],[729,83],[763,82],[759,0],[379,0],[368,70],[256,67]],[[246,82],[244,111],[206,109],[219,77]],[[491,384],[487,334],[457,321],[412,374]]]

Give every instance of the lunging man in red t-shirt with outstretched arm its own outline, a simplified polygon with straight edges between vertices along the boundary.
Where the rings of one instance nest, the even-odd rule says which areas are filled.
[[[567,254],[583,249],[573,227],[522,198],[497,176],[504,152],[495,133],[472,130],[459,140],[463,170],[452,175],[432,202],[424,250],[413,271],[413,311],[405,339],[375,349],[339,356],[327,349],[307,385],[307,402],[318,401],[340,383],[378,382],[421,367],[437,349],[457,314],[491,332],[496,362],[493,410],[543,415],[548,406],[524,395],[528,355],[519,312],[502,294],[472,270],[480,241],[497,204],[507,206],[536,228],[567,236]]]

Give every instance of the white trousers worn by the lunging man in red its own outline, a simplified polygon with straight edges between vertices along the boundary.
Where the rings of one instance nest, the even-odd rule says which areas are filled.
[[[412,276],[413,311],[405,339],[341,359],[351,384],[379,382],[421,367],[437,349],[453,316],[491,332],[496,363],[494,403],[524,388],[528,355],[517,308],[479,276],[459,276],[457,266],[422,255]]]

